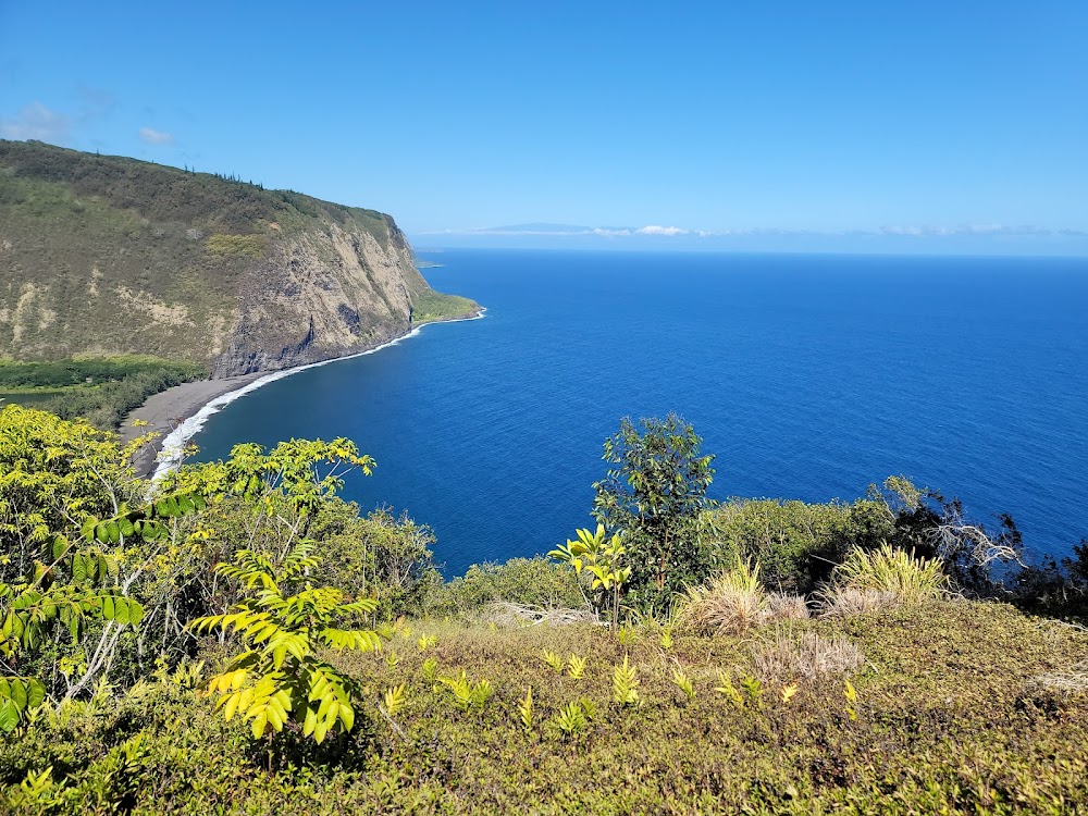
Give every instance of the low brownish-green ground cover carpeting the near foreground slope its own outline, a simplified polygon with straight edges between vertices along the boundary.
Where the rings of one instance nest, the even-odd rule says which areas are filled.
[[[761,644],[805,630],[864,653],[850,678],[853,718],[841,676],[765,673],[758,697],[739,707],[715,691],[719,670],[739,682],[756,673]],[[425,651],[424,634],[437,638]],[[252,746],[243,724],[223,724],[208,700],[164,679],[8,740],[0,783],[13,813],[1088,812],[1088,697],[1034,680],[1088,657],[1078,628],[1000,604],[939,602],[743,638],[675,635],[669,648],[650,622],[625,640],[592,626],[413,621],[382,653],[341,659],[371,702],[338,744]],[[555,671],[545,650],[585,657],[584,677]],[[636,706],[613,702],[625,655]],[[425,660],[437,676],[487,679],[494,696],[482,712],[459,710],[426,679]],[[693,700],[671,682],[677,668]],[[407,702],[386,717],[378,701],[400,683]],[[527,729],[518,705],[529,687]],[[592,716],[564,734],[557,713],[583,698]],[[30,802],[18,783],[50,766],[52,787]]]

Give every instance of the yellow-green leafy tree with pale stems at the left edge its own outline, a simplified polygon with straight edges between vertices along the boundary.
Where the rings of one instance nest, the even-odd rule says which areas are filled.
[[[110,676],[144,619],[149,564],[205,507],[186,491],[146,500],[129,460],[148,440],[0,411],[0,730]]]

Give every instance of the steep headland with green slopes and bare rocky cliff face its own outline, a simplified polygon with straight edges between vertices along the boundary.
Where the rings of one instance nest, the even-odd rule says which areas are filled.
[[[399,336],[436,296],[388,215],[0,140],[0,356],[272,371]]]

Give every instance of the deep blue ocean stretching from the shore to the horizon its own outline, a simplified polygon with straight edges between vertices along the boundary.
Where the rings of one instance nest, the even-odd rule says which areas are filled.
[[[448,250],[482,320],[272,382],[213,416],[232,445],[347,436],[345,494],[407,509],[447,576],[590,523],[602,442],[676,411],[712,494],[852,500],[906,474],[1034,553],[1088,536],[1088,259]]]

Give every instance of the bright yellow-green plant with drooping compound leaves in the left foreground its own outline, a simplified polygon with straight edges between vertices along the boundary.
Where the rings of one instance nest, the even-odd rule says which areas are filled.
[[[343,618],[373,611],[378,602],[347,602],[344,593],[312,586],[306,573],[319,559],[310,544],[298,544],[279,565],[251,551],[240,551],[234,565],[217,572],[236,581],[247,593],[225,615],[189,623],[195,632],[233,632],[248,646],[208,682],[219,695],[217,708],[230,720],[236,714],[250,722],[254,738],[282,731],[288,721],[302,734],[322,742],[326,734],[350,731],[355,725],[358,688],[317,656],[319,648],[373,652],[381,648],[370,629],[342,629]],[[297,592],[292,589],[298,588]]]

